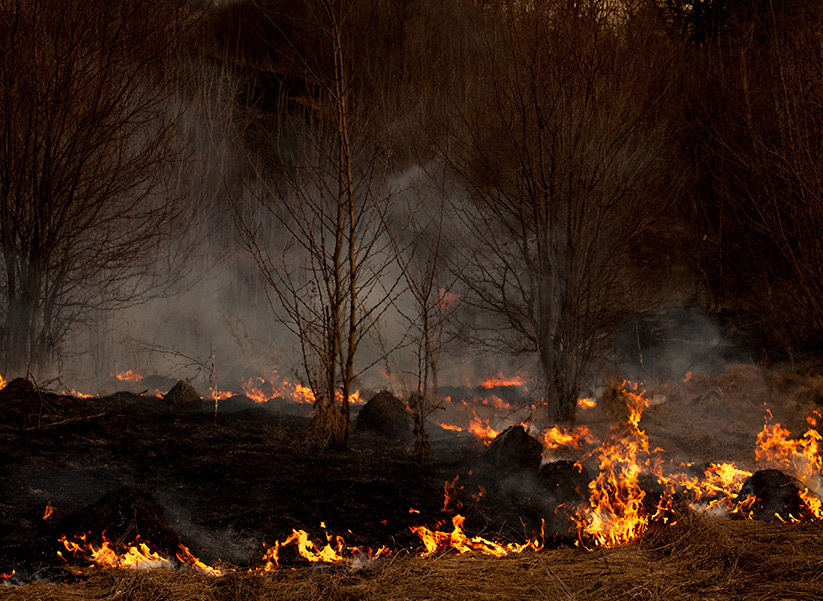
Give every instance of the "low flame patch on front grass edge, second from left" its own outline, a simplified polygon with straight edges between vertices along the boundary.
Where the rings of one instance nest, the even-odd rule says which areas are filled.
[[[325,523],[321,523],[320,527],[325,530]],[[326,532],[325,544],[320,541],[313,541],[305,530],[295,528],[292,529],[292,533],[285,540],[282,542],[275,541],[274,545],[266,549],[266,553],[263,555],[265,565],[261,568],[261,571],[270,572],[280,567],[281,553],[289,545],[293,546],[299,557],[312,563],[355,564],[375,560],[390,554],[387,547],[380,547],[377,551],[373,551],[359,546],[349,546],[342,536],[333,536],[328,532]]]

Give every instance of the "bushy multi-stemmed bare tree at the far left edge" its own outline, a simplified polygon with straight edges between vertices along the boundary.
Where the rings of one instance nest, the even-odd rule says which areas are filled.
[[[182,223],[167,58],[183,17],[148,0],[0,5],[5,370],[44,366],[90,311],[157,283]]]

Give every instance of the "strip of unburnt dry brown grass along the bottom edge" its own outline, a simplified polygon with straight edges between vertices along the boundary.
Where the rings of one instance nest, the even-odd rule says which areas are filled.
[[[210,578],[169,570],[91,570],[75,584],[0,587],[2,601],[427,601],[821,599],[823,524],[686,514],[636,544],[501,559],[397,556],[357,572],[284,569]]]

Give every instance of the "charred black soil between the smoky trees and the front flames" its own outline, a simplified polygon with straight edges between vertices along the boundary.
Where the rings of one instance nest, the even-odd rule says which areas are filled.
[[[236,565],[259,564],[264,543],[293,528],[317,540],[328,532],[348,545],[415,552],[421,544],[410,526],[451,530],[458,511],[469,534],[522,540],[562,501],[545,506],[536,473],[484,472],[485,447],[468,438],[440,433],[434,465],[420,469],[404,446],[354,436],[348,449],[318,450],[305,415],[250,402],[234,409],[215,415],[209,403],[184,410],[130,393],[0,391],[0,572],[59,567],[57,539],[99,522],[100,500],[123,489],[109,498],[138,498],[148,515],[156,502],[195,555]],[[459,498],[444,510],[444,483],[456,475]],[[54,512],[43,519],[47,504]],[[147,529],[136,534],[146,540]]]

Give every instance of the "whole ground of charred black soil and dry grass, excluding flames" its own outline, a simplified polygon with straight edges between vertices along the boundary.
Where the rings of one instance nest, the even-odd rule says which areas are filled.
[[[642,425],[652,445],[672,460],[736,461],[751,469],[766,409],[799,434],[803,418],[818,406],[819,388],[813,376],[754,366],[712,378],[697,374],[649,390],[651,406]],[[601,437],[618,419],[619,410],[607,405],[580,413],[581,423]],[[215,414],[208,403],[180,407],[131,393],[80,399],[28,389],[15,393],[9,387],[0,391],[0,572],[15,570],[7,583],[20,584],[0,587],[0,596],[811,599],[823,594],[817,592],[823,578],[820,522],[764,524],[684,512],[676,526],[652,529],[630,545],[584,551],[551,528],[556,500],[543,502],[539,481],[517,477],[516,470],[506,477],[483,472],[478,458],[485,447],[472,437],[441,433],[435,464],[420,469],[407,442],[355,435],[347,450],[320,451],[306,439],[305,412],[293,409],[236,399]],[[546,548],[507,558],[420,558],[422,544],[410,526],[434,527],[457,510],[443,507],[444,483],[458,474],[467,533],[522,542],[548,520]],[[478,497],[483,484],[496,482],[507,483]],[[61,560],[60,535],[76,534],[67,529],[89,523],[90,506],[99,512],[94,503],[124,489],[156,502],[171,531],[195,555],[239,571],[215,579],[179,570],[87,569],[88,561]],[[43,519],[47,505],[54,512]],[[262,566],[266,544],[285,540],[293,528],[317,540],[330,532],[343,535],[348,545],[386,545],[391,554],[351,571],[318,569],[284,553],[284,567],[274,573],[246,573]]]

